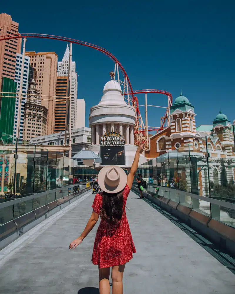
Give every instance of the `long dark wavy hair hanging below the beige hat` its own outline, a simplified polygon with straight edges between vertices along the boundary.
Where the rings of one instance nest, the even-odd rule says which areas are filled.
[[[105,219],[111,225],[120,223],[122,218],[123,190],[113,194],[104,191],[102,193],[103,203],[100,211],[100,217]]]

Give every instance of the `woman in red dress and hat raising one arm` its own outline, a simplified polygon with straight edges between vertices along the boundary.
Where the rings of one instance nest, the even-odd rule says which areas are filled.
[[[99,268],[100,294],[110,294],[109,275],[112,267],[112,294],[122,293],[122,277],[125,264],[132,259],[135,245],[127,222],[125,205],[135,172],[144,150],[142,144],[137,148],[130,173],[118,166],[105,166],[98,175],[98,183],[103,193],[97,193],[93,202],[93,212],[83,233],[73,240],[69,249],[75,249],[93,229],[100,215],[92,262]]]

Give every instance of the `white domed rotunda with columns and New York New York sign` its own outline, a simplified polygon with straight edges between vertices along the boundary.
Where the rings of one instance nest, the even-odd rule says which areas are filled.
[[[135,109],[124,101],[120,84],[108,81],[100,102],[90,108],[89,116],[92,134],[89,150],[100,154],[101,166],[131,166],[137,149],[134,145],[135,121]]]

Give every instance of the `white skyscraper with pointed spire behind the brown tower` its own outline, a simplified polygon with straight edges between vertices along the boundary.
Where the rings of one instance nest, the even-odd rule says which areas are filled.
[[[62,58],[62,61],[58,62],[58,77],[68,77],[68,63],[69,63],[69,48],[67,44],[66,51]],[[71,129],[76,128],[76,118],[77,118],[77,96],[78,96],[78,76],[76,73],[76,63],[72,61],[72,76],[71,76]],[[64,131],[64,130],[63,130]]]

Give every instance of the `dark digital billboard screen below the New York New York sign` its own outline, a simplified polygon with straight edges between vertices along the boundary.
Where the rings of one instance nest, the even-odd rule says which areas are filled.
[[[101,165],[125,165],[124,146],[100,147]]]

